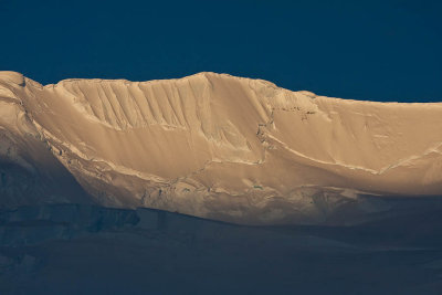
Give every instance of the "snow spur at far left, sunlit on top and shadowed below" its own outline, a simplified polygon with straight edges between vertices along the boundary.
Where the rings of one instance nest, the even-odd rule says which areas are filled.
[[[30,119],[28,95],[21,74],[0,72],[0,208],[93,203]]]

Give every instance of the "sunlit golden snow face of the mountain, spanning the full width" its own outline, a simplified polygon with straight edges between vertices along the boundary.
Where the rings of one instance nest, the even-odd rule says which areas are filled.
[[[0,115],[3,159],[77,181],[109,207],[322,223],[389,210],[367,194],[442,194],[442,104],[329,98],[214,73],[42,86],[1,72]]]

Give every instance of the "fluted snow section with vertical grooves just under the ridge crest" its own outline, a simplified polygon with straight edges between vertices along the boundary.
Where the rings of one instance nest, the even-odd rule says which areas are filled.
[[[204,137],[219,139],[220,130],[214,128],[211,119],[211,82],[206,76],[203,80],[196,77],[169,84],[120,81],[93,81],[87,84],[72,80],[60,85],[62,92],[72,94],[74,105],[81,112],[112,128],[124,130],[162,125],[200,130]],[[263,102],[251,103],[259,108],[261,116],[265,114]],[[227,134],[224,136],[229,138]]]

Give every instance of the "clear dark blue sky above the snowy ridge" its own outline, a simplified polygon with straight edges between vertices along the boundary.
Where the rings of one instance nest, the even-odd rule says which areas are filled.
[[[0,70],[43,84],[212,71],[328,96],[442,101],[439,2],[1,0]]]

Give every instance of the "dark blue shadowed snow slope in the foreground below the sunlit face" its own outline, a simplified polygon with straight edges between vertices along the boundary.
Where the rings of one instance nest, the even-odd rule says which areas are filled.
[[[1,294],[440,294],[439,211],[249,228],[155,210],[0,213]]]

